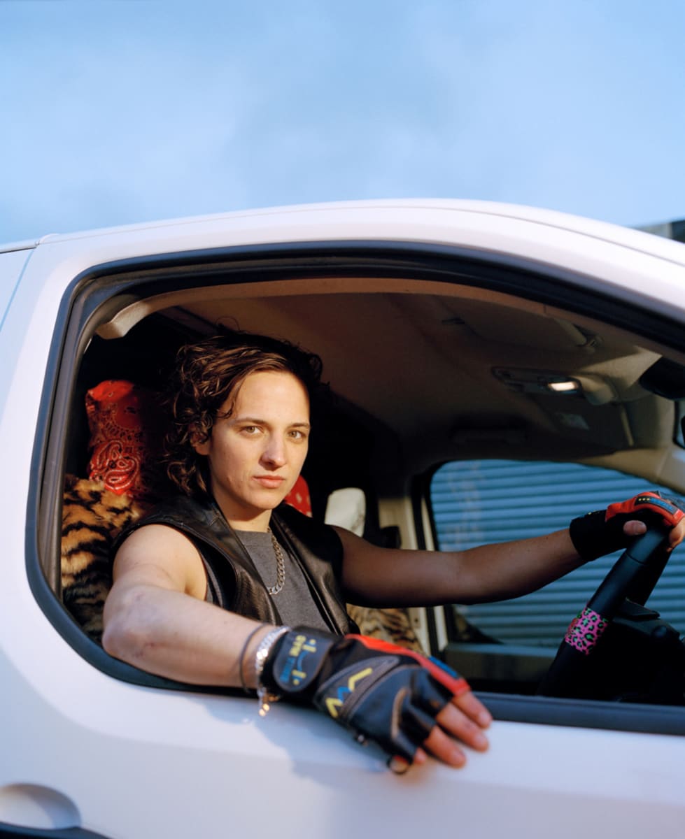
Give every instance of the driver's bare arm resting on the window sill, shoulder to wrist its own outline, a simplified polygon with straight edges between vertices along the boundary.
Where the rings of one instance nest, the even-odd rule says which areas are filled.
[[[259,623],[205,602],[206,586],[202,561],[189,539],[163,525],[137,530],[114,563],[103,647],[156,675],[238,687],[240,654]],[[254,651],[269,628],[259,629],[243,657],[248,687],[254,687]]]

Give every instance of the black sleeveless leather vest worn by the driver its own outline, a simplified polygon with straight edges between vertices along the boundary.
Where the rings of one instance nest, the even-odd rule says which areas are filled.
[[[216,503],[185,496],[171,498],[127,529],[118,544],[145,524],[166,524],[191,539],[207,571],[210,601],[245,618],[283,623],[248,552]],[[300,565],[311,597],[331,632],[358,631],[345,611],[341,590],[343,545],[335,530],[287,504],[280,504],[274,511],[270,524],[281,545]]]

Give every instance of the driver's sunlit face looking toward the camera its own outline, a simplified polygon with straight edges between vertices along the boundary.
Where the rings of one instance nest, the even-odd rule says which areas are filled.
[[[232,402],[233,396],[220,413]],[[266,529],[300,474],[309,431],[309,398],[298,378],[264,372],[244,380],[231,415],[194,446],[207,456],[212,494],[230,524]]]

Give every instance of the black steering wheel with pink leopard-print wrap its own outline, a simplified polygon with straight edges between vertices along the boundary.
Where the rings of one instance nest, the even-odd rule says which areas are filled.
[[[616,617],[626,597],[641,592],[644,603],[666,565],[659,548],[668,537],[662,525],[648,524],[647,531],[620,555],[588,605],[569,625],[557,656],[541,680],[537,693],[542,696],[573,696],[582,680],[588,657],[593,654],[609,623]]]

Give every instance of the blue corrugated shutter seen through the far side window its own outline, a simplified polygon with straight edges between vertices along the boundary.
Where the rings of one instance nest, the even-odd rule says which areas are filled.
[[[438,547],[465,550],[550,533],[589,510],[659,488],[622,472],[575,463],[456,461],[442,466],[431,482]],[[525,597],[459,611],[507,643],[556,647],[619,555],[583,565]],[[685,631],[685,548],[672,555],[648,605]]]

